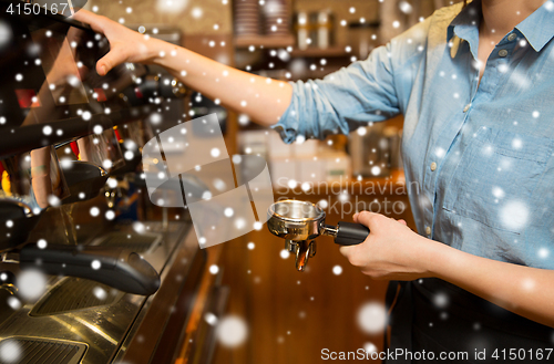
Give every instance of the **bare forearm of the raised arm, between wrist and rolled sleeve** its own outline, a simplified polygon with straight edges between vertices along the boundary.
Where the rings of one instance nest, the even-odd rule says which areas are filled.
[[[181,82],[263,125],[273,125],[287,110],[293,87],[238,71],[181,46],[152,42],[154,63],[168,70]]]

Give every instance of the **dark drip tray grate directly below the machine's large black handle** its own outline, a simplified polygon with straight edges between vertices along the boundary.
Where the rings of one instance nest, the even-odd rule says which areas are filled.
[[[117,302],[123,294],[99,282],[65,278],[34,304],[29,315],[44,316],[110,305]]]

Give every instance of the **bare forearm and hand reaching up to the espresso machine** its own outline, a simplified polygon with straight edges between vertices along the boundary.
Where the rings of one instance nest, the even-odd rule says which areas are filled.
[[[96,63],[100,75],[124,62],[158,64],[191,89],[263,125],[277,123],[290,104],[293,87],[287,82],[238,71],[86,10],[73,19],[90,24],[110,42],[110,52]]]

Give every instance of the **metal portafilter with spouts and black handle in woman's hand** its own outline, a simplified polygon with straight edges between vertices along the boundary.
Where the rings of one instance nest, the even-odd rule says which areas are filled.
[[[361,223],[340,221],[336,227],[326,225],[325,211],[308,201],[275,202],[267,210],[267,228],[285,239],[285,249],[296,256],[296,269],[300,272],[308,259],[316,254],[316,241],[312,239],[326,235],[339,246],[355,246],[363,242],[369,235],[369,229]]]

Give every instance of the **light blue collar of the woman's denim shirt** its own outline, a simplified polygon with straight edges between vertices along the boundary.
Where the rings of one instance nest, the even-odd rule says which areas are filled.
[[[474,0],[460,11],[448,28],[448,41],[454,35],[468,41],[475,59],[480,19],[481,0]],[[540,52],[554,38],[554,1],[548,0],[543,3],[541,8],[515,25],[515,29],[525,37],[536,52]]]

